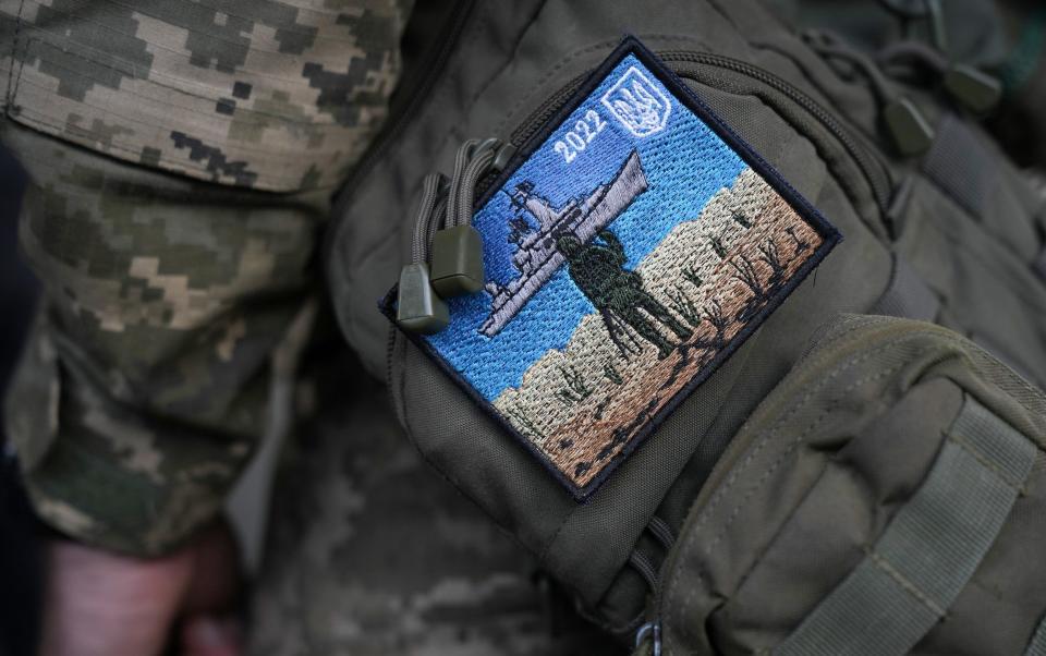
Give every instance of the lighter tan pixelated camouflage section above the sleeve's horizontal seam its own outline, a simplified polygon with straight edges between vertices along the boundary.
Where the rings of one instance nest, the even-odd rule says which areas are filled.
[[[405,1],[0,0],[8,117],[123,160],[293,192],[386,114]]]

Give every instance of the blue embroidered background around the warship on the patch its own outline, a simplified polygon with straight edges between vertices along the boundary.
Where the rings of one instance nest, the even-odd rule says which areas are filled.
[[[665,129],[645,137],[633,135],[600,102],[631,66],[638,69],[672,105]],[[555,144],[565,139],[589,111],[598,112],[606,125],[567,163]],[[519,274],[511,262],[515,246],[509,242],[509,221],[515,216],[509,193],[519,183],[533,182],[534,193],[548,198],[554,207],[561,207],[570,198],[585,197],[596,186],[609,182],[632,149],[638,150],[649,187],[609,226],[624,245],[629,268],[635,267],[678,223],[696,218],[716,192],[732,184],[747,168],[737,153],[629,54],[476,212],[473,224],[484,238],[487,279],[506,283]],[[426,339],[489,401],[508,387],[519,387],[526,369],[549,349],[565,347],[581,319],[595,311],[571,282],[565,266],[492,338],[479,332],[490,314],[490,296],[486,292],[451,299],[449,305],[450,326]]]

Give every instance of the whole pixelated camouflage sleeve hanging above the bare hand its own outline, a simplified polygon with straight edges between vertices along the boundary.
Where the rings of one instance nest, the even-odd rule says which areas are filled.
[[[8,417],[57,529],[154,555],[218,512],[409,9],[0,0],[0,138],[45,289]]]

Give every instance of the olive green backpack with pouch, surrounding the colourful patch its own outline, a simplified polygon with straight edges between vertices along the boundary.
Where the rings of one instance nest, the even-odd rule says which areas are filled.
[[[919,48],[887,76],[752,0],[466,1],[425,28],[326,262],[426,460],[640,653],[1046,653],[1046,196],[973,118],[990,81]],[[579,496],[389,320],[389,290],[436,266],[426,175],[511,169],[627,34],[842,241]],[[498,141],[455,161],[474,137]]]

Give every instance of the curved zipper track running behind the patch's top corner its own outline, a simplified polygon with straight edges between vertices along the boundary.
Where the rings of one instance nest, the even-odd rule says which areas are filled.
[[[791,101],[795,102],[807,113],[814,117],[829,132],[829,134],[831,134],[840,143],[840,145],[842,145],[843,149],[846,149],[846,151],[854,160],[854,162],[858,165],[858,168],[861,169],[865,179],[868,181],[868,186],[872,190],[872,196],[875,199],[875,204],[878,207],[884,220],[887,220],[887,208],[889,207],[892,183],[886,165],[883,163],[883,160],[877,157],[866,145],[854,138],[850,129],[848,129],[841,121],[836,119],[831,112],[827,111],[817,100],[814,100],[790,82],[778,77],[774,73],[730,57],[711,54],[708,52],[689,51],[659,52],[658,57],[666,62],[677,64],[693,63],[739,73],[746,77],[756,80],[757,82],[762,82],[763,84],[784,95]],[[671,68],[680,77],[692,80],[694,82],[706,81],[706,78],[694,69],[685,69],[680,65]],[[574,77],[565,85],[560,87],[559,90],[552,94],[548,100],[542,104],[540,107],[534,110],[520,124],[520,126],[512,132],[512,135],[509,139],[512,145],[521,148],[527,141],[530,141],[545,124],[545,122],[547,122],[557,111],[559,111],[567,100],[573,96],[573,94],[577,90],[577,88],[581,87],[588,75],[589,72],[585,72]]]

